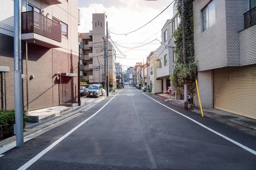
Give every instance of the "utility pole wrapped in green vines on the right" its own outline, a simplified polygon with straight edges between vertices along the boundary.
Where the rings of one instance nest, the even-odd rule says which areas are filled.
[[[185,16],[184,0],[181,0],[182,36],[183,36],[183,65],[186,66],[186,37],[185,37]],[[187,80],[184,81],[184,108],[188,110]]]

